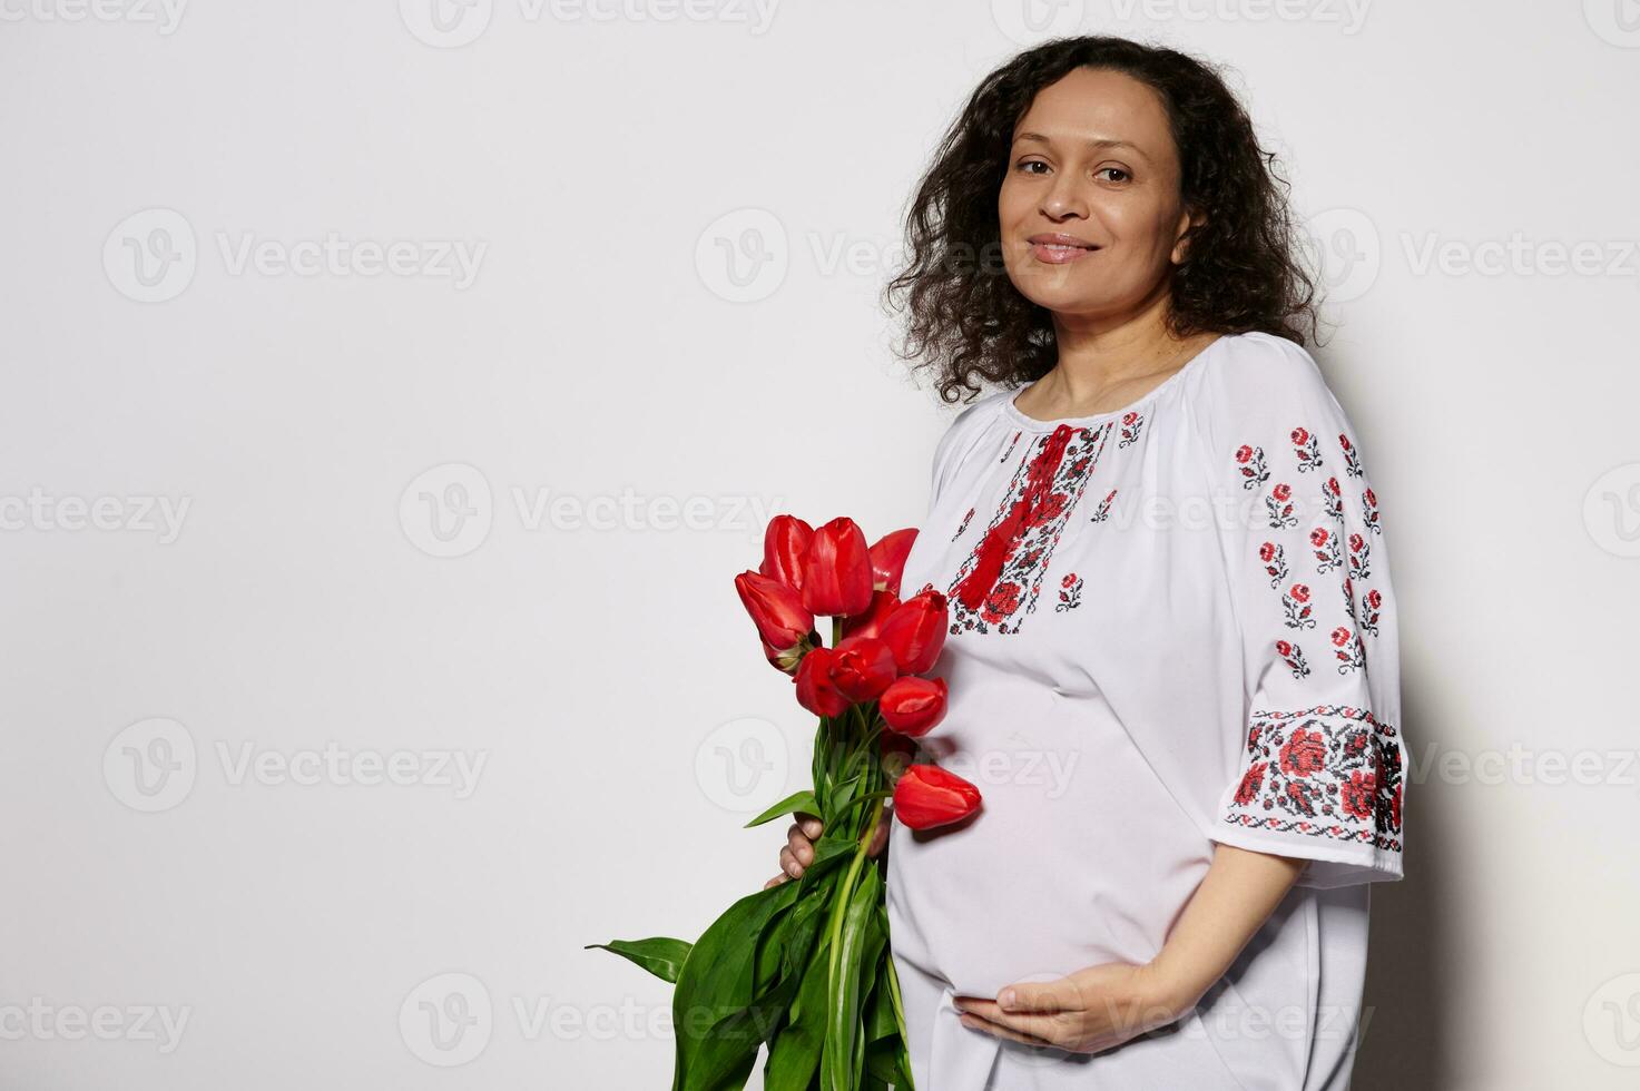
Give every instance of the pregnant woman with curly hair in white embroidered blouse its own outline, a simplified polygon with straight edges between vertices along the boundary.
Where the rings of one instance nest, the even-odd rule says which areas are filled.
[[[917,1088],[1342,1091],[1402,876],[1396,599],[1253,126],[1187,56],[1050,41],[909,221],[917,353],[1000,387],[902,579],[951,612],[917,760],[984,796],[876,847]]]

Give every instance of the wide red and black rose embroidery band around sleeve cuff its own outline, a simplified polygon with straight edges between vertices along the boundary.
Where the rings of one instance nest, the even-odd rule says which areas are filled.
[[[1248,765],[1223,819],[1401,851],[1396,740],[1394,725],[1350,705],[1253,712]]]

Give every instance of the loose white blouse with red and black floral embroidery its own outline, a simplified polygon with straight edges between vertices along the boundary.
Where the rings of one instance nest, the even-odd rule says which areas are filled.
[[[1222,336],[1125,410],[964,409],[935,453],[904,594],[936,587],[946,719],[920,761],[969,819],[895,824],[887,907],[918,1088],[1342,1089],[1368,884],[1402,876],[1389,556],[1310,354]],[[1214,842],[1297,886],[1184,1019],[1099,1055],[963,1027],[995,997],[1148,961]]]

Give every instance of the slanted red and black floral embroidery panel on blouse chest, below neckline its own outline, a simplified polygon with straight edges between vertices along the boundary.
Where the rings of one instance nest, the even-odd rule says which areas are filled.
[[[953,633],[1018,632],[1036,607],[1048,559],[1109,435],[1109,422],[1097,428],[1059,425],[1020,459],[991,525],[951,581]]]

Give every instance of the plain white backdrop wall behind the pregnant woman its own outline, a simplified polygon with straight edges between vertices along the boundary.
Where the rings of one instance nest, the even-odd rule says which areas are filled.
[[[1325,269],[1414,755],[1356,1086],[1635,1086],[1633,0],[0,0],[0,1088],[669,1083],[582,947],[776,873],[731,579],[918,523],[897,217],[1048,33],[1230,64]]]

